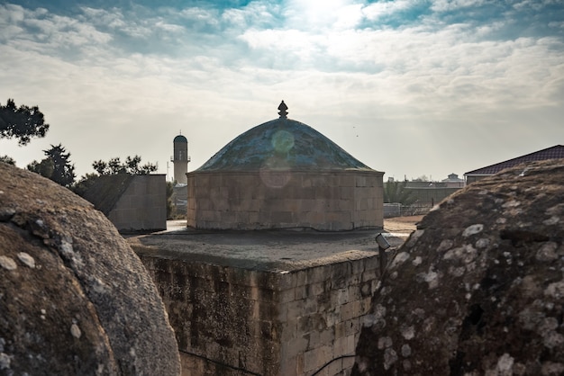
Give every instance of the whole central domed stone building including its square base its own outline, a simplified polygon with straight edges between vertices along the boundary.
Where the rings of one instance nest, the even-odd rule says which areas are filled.
[[[383,173],[278,110],[187,174],[186,228],[129,239],[183,375],[347,375],[354,363],[378,286]]]

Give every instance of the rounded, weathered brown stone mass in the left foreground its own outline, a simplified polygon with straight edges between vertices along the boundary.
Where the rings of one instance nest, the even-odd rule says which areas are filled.
[[[179,373],[158,291],[111,222],[0,163],[0,374]]]

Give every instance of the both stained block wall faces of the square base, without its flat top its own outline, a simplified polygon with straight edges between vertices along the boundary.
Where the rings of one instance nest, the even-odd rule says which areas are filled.
[[[141,255],[175,329],[183,375],[347,375],[378,256],[350,251],[293,271]]]

